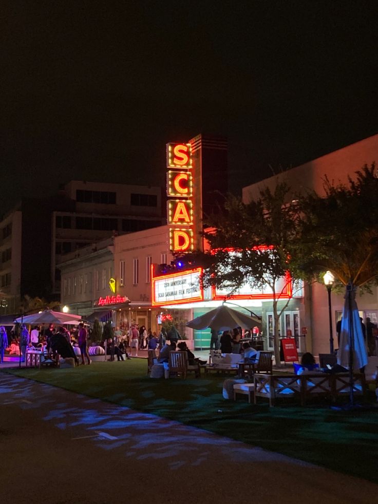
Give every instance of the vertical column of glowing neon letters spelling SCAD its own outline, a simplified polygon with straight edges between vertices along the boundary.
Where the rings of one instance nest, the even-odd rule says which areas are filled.
[[[169,248],[173,252],[193,250],[193,174],[190,143],[168,143],[167,222]]]

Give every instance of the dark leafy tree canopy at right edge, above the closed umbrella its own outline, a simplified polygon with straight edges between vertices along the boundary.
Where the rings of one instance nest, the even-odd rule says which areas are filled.
[[[325,196],[298,196],[296,253],[307,275],[330,270],[343,285],[369,289],[378,280],[378,177],[374,163],[355,173],[348,184],[326,177]]]

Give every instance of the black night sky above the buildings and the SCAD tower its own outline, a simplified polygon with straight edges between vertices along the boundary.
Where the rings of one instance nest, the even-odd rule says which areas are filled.
[[[240,191],[378,132],[375,0],[2,10],[0,212],[71,179],[163,184],[165,143],[198,133],[228,136]]]

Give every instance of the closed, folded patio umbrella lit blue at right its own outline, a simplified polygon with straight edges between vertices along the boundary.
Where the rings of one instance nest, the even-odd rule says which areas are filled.
[[[349,369],[350,402],[353,404],[353,370],[358,371],[366,366],[368,354],[355,301],[355,288],[352,284],[348,284],[345,294],[337,363]]]

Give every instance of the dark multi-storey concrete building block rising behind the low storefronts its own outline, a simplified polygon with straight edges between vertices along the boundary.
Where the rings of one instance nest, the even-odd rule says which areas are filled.
[[[59,298],[66,253],[102,239],[161,226],[159,187],[71,181],[52,197],[23,198],[0,222],[0,313],[28,294]]]

